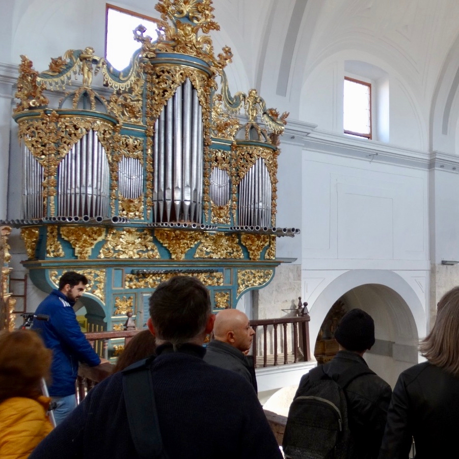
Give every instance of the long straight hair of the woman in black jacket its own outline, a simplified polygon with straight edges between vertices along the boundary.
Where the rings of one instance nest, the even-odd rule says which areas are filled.
[[[459,376],[459,287],[442,296],[435,325],[419,350],[431,364]]]

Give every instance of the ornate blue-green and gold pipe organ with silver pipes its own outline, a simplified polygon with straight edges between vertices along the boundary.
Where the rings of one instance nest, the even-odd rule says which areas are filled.
[[[215,56],[210,0],[159,0],[164,34],[144,36],[120,72],[86,47],[38,72],[21,56],[13,118],[23,151],[28,259],[41,289],[69,269],[90,280],[88,320],[144,325],[148,296],[176,274],[199,277],[215,310],[266,285],[276,237],[278,137],[288,114],[255,89],[231,95],[228,47]],[[82,75],[79,83],[68,83]],[[75,89],[76,88],[76,89]],[[69,91],[71,89],[71,91]],[[50,91],[64,96],[51,106]]]

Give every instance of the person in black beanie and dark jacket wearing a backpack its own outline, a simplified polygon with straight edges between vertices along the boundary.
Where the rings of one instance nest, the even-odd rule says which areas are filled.
[[[339,351],[333,360],[322,366],[323,372],[337,381],[349,368],[362,368],[363,374],[352,380],[344,393],[354,445],[352,459],[373,459],[379,454],[392,389],[375,373],[364,373],[368,365],[363,355],[375,341],[372,317],[361,309],[348,311],[335,330],[335,339]],[[295,398],[306,394],[309,387],[309,374],[305,374]]]

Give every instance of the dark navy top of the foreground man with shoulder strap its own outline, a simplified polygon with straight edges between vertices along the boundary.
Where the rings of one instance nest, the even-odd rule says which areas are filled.
[[[201,346],[185,344],[173,352],[172,346],[162,345],[156,353],[152,384],[169,459],[282,459],[260,402],[244,379],[203,362]],[[91,389],[30,458],[137,459],[122,378],[115,373]]]

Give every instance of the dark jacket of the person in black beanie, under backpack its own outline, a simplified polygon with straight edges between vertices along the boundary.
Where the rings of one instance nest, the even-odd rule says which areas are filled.
[[[332,378],[351,365],[362,365],[368,368],[365,360],[359,355],[340,350],[335,358],[323,365],[323,370]],[[309,385],[309,375],[305,374],[295,398],[302,395]],[[349,429],[355,441],[355,454],[352,459],[376,458],[381,446],[381,439],[386,425],[387,408],[392,390],[376,374],[363,374],[344,389],[347,399]]]

